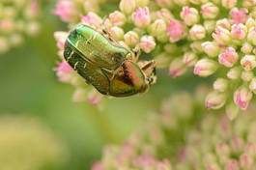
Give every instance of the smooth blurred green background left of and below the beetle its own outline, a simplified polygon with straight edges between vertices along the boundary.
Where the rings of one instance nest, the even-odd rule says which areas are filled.
[[[64,169],[89,169],[105,144],[121,143],[147,113],[157,110],[161,99],[178,89],[192,89],[195,78],[171,79],[167,71],[158,71],[149,93],[108,99],[101,111],[72,102],[73,88],[58,82],[53,71],[59,59],[53,33],[67,28],[52,15],[53,5],[44,4],[36,38],[0,56],[0,113],[37,117],[67,146],[70,156]]]

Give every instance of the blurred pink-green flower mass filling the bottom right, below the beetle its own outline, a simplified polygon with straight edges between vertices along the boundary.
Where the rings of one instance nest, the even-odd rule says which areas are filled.
[[[92,169],[255,169],[255,107],[231,122],[225,114],[207,113],[197,104],[202,96],[195,97],[177,94],[163,101],[159,114],[149,115],[122,146],[106,147]]]

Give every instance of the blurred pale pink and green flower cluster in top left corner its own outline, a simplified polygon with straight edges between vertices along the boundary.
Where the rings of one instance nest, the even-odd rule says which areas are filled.
[[[40,25],[38,0],[2,0],[0,2],[0,53],[20,44],[24,36],[35,36]]]

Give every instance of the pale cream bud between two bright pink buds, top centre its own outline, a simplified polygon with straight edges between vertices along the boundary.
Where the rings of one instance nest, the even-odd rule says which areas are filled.
[[[166,23],[163,19],[156,19],[154,23],[151,24],[149,31],[152,36],[159,36],[165,34]]]

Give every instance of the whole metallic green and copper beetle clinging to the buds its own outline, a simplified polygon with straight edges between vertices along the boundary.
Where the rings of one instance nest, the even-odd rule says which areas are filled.
[[[136,63],[137,55],[82,24],[71,31],[64,50],[64,57],[74,71],[101,94],[113,97],[144,93],[155,83],[155,62]]]

